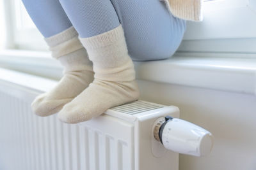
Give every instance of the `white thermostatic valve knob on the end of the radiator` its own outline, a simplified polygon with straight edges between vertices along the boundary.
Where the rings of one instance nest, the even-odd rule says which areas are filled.
[[[210,153],[213,146],[211,132],[179,118],[160,120],[154,137],[168,150],[198,157]]]

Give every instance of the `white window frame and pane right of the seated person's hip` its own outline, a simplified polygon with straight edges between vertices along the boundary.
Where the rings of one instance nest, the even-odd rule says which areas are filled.
[[[204,52],[205,55],[256,53],[255,1],[205,1],[203,11],[202,22],[187,22],[187,30],[177,52]]]

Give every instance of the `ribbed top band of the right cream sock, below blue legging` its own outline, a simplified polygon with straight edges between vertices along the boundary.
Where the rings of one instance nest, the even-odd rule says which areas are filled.
[[[118,25],[115,29],[104,32],[97,36],[89,38],[79,38],[84,48],[100,48],[103,46],[113,45],[116,41],[124,41],[124,30],[122,25]]]

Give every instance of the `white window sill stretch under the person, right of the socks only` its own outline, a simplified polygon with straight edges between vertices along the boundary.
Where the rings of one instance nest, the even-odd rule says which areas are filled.
[[[140,80],[256,95],[256,59],[173,57],[135,66]]]

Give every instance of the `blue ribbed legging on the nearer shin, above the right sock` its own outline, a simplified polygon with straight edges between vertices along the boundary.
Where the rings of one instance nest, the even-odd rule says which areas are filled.
[[[60,3],[81,38],[102,34],[120,24],[109,0],[60,0]]]

